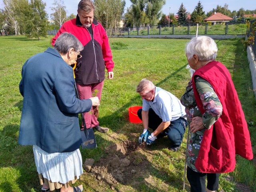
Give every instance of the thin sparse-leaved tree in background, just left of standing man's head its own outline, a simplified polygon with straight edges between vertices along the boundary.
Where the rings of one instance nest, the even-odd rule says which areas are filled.
[[[62,0],[54,0],[53,7],[51,10],[51,18],[54,21],[54,24],[57,26],[62,26],[63,22],[66,20],[66,6]]]

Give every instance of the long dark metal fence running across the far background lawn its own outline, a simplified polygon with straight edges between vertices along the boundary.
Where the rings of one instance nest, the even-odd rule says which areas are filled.
[[[217,24],[202,23],[198,25],[198,35],[246,35],[248,25],[245,23],[221,22]],[[108,35],[195,35],[196,24],[154,25],[139,28],[113,28]]]

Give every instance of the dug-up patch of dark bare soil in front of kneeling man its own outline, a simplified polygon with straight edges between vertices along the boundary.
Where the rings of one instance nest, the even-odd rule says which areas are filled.
[[[145,144],[138,145],[129,140],[113,144],[107,149],[108,156],[101,158],[88,171],[94,178],[106,182],[113,190],[118,183],[128,184],[149,164],[145,161],[146,157],[138,152],[144,146]]]

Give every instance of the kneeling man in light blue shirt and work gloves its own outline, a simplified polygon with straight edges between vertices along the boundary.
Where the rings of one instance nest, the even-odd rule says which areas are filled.
[[[167,135],[171,142],[170,150],[177,151],[187,126],[185,108],[180,100],[146,79],[140,81],[136,92],[142,98],[142,109],[137,112],[144,126],[140,144],[144,141],[151,145],[156,138]],[[153,130],[151,134],[148,128]]]

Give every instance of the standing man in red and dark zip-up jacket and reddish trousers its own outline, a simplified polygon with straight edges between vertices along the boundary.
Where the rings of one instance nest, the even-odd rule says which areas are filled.
[[[76,18],[65,22],[52,38],[54,45],[62,32],[69,32],[74,34],[84,46],[84,50],[80,52],[82,58],[77,60],[74,70],[80,99],[88,99],[92,95],[101,98],[105,68],[109,79],[114,76],[114,62],[108,36],[102,25],[94,19],[94,9],[92,0],[81,0]],[[84,119],[86,128],[95,128],[99,132],[108,131],[108,128],[99,126],[98,108],[84,113]]]

